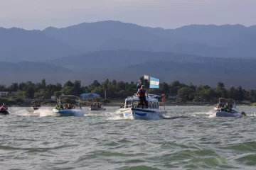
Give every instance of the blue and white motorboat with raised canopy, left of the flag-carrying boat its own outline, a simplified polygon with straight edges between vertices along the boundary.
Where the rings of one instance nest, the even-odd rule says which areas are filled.
[[[71,99],[73,99],[73,102],[76,103],[75,106],[78,108],[76,108],[75,106],[73,106],[71,109],[62,108],[63,106],[62,102],[64,101],[65,98],[68,99],[68,101],[72,101]],[[80,105],[80,98],[78,96],[62,95],[59,98],[57,98],[57,103],[60,106],[60,109],[53,108],[53,112],[58,116],[75,116],[75,117],[84,116],[84,113],[82,112],[82,108]]]

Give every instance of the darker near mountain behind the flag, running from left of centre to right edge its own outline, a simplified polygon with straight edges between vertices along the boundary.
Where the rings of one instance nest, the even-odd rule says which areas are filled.
[[[242,85],[245,88],[255,88],[256,84],[256,80],[252,79],[256,60],[250,59],[230,60],[173,52],[117,50],[89,52],[50,62],[90,76],[83,79],[86,83],[90,83],[91,79],[137,81],[138,77],[149,74],[161,81],[179,80],[197,85],[215,86],[221,81],[227,87]]]

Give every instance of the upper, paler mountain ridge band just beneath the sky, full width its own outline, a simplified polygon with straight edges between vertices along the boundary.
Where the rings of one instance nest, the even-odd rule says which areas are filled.
[[[256,26],[191,25],[149,28],[119,21],[44,30],[0,28],[0,61],[43,61],[99,50],[176,52],[204,57],[255,58]]]

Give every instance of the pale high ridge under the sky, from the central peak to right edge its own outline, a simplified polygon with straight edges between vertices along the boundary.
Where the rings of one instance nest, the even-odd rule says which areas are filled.
[[[43,33],[84,51],[169,51],[210,57],[255,57],[256,27],[191,25],[177,29],[148,28],[119,21],[46,28]]]

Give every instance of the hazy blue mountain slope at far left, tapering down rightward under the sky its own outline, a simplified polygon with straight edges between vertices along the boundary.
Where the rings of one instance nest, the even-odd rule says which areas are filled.
[[[0,61],[43,61],[74,53],[67,43],[40,30],[0,28]]]

